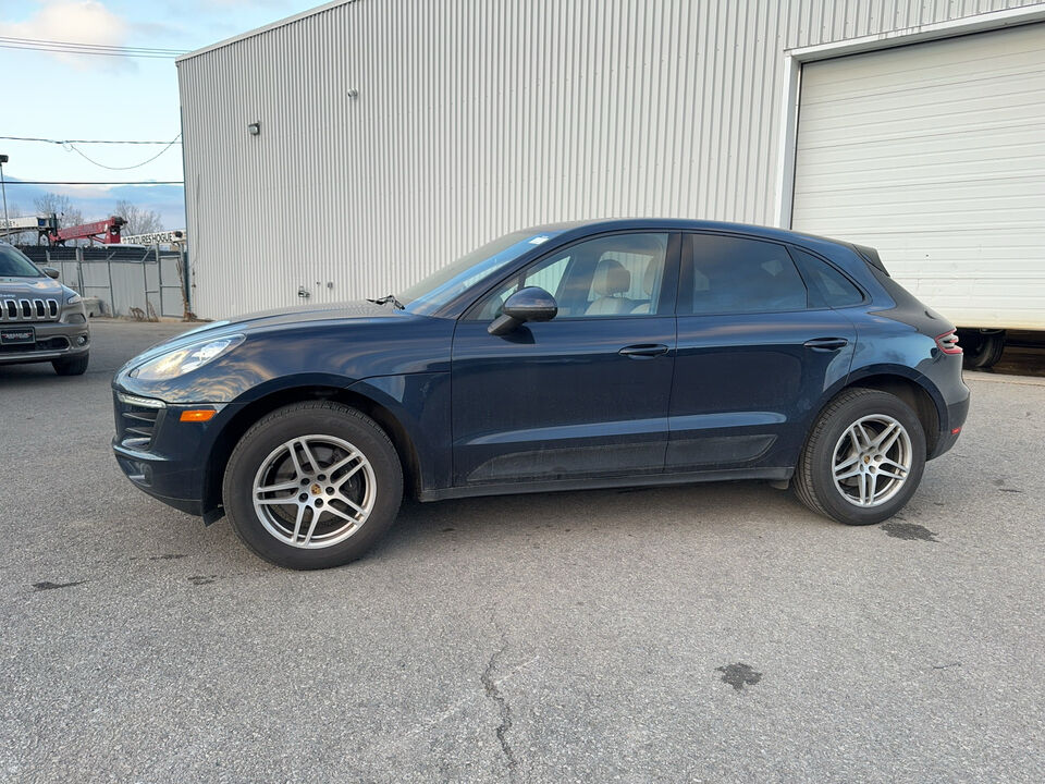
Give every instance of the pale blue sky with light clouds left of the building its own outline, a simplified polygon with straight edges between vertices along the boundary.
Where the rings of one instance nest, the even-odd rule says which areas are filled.
[[[193,50],[319,5],[324,0],[0,0],[0,38]],[[0,41],[2,42],[2,41]],[[171,142],[181,132],[173,58],[100,57],[0,48],[0,136]],[[15,181],[181,181],[182,150],[162,145],[61,145],[0,138],[8,206],[32,215],[41,192],[65,194],[85,220],[118,199],[185,224],[181,185],[16,185]],[[136,167],[113,171],[104,167]]]

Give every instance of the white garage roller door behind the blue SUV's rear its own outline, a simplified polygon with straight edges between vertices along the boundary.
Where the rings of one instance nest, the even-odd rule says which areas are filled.
[[[1045,329],[1045,24],[804,65],[792,226],[959,326]]]

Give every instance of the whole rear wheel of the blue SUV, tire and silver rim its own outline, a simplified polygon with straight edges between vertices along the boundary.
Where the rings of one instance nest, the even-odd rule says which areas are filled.
[[[811,510],[847,525],[899,512],[925,468],[925,433],[903,401],[850,389],[823,411],[795,470],[795,491]]]

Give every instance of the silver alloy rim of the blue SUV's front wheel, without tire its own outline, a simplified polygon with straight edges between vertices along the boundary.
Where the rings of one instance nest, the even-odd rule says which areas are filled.
[[[367,522],[377,498],[370,461],[333,436],[300,436],[276,446],[254,475],[254,510],[284,544],[316,550],[344,541]]]

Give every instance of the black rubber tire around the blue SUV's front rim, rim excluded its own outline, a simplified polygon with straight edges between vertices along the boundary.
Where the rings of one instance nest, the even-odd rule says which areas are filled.
[[[305,436],[347,442],[369,461],[376,480],[366,520],[347,539],[314,550],[278,539],[254,505],[254,481],[262,465],[281,444]],[[266,561],[293,569],[329,568],[364,555],[392,525],[403,500],[403,466],[389,437],[365,414],[329,401],[295,403],[262,417],[239,439],[225,467],[222,499],[236,535]]]

